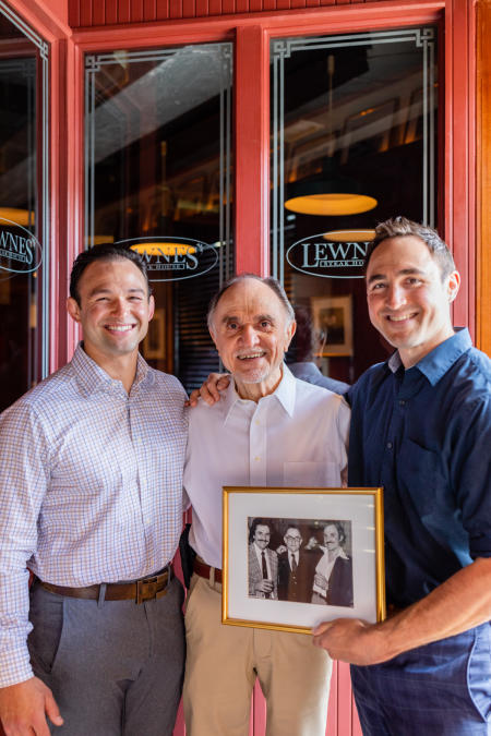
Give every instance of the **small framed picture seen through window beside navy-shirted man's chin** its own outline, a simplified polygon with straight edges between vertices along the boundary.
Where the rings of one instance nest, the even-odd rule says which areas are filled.
[[[313,297],[311,302],[315,329],[326,335],[322,355],[352,355],[351,294]]]

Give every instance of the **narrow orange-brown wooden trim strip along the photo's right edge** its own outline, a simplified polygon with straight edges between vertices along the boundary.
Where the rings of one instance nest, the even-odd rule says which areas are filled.
[[[477,325],[476,345],[491,355],[491,0],[477,2]]]

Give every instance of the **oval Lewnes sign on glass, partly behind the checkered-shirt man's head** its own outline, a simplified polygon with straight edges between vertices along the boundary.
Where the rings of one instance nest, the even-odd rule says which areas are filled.
[[[152,237],[120,240],[146,263],[149,281],[180,281],[203,276],[216,265],[214,245],[192,238]]]

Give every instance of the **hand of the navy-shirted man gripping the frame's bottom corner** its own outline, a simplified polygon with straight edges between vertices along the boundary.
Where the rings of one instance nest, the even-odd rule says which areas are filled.
[[[314,645],[325,649],[333,660],[368,665],[394,656],[380,627],[359,618],[325,622],[316,626],[312,634]]]

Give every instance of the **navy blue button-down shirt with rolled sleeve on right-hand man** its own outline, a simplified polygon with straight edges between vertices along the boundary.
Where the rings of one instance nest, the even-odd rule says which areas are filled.
[[[387,601],[409,605],[491,557],[491,361],[456,331],[348,393],[349,485],[384,486]]]

